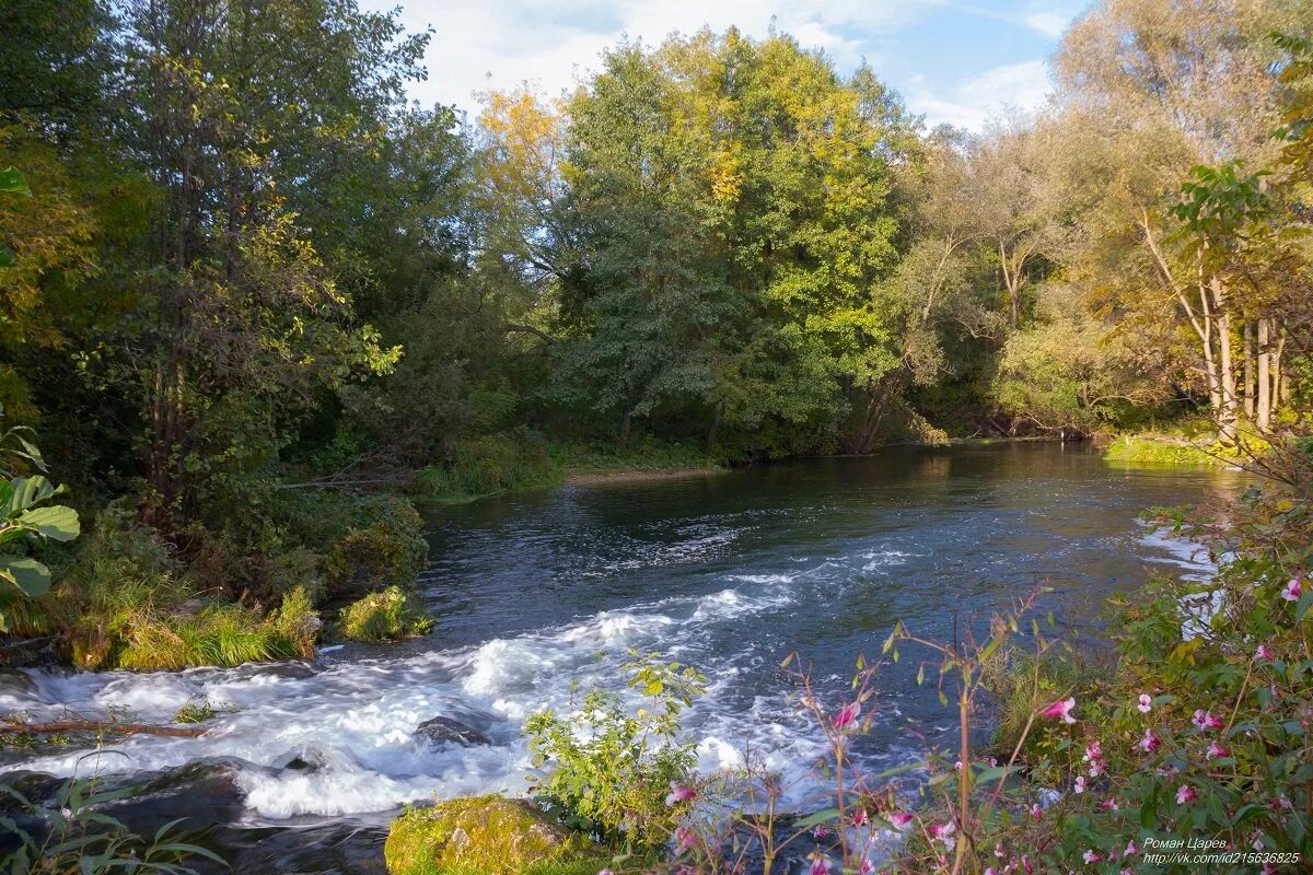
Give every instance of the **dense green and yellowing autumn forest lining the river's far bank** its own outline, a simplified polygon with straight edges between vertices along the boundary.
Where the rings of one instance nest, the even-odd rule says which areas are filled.
[[[352,0],[5,7],[11,474],[95,519],[14,529],[11,581],[35,551],[70,597],[5,610],[101,617],[88,665],[161,656],[117,596],[59,617],[116,575],[291,605],[274,652],[407,582],[414,510],[352,487],[1306,425],[1305,3],[1096,4],[1048,105],[978,134],[785,34],[621,42],[471,118],[406,98],[439,33]]]

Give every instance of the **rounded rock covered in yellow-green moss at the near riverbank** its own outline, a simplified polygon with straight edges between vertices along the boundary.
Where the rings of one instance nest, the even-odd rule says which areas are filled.
[[[470,796],[406,811],[383,857],[391,875],[546,875],[588,871],[592,855],[530,802]]]

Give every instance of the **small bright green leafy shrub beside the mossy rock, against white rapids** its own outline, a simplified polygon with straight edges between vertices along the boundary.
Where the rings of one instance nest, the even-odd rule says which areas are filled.
[[[533,765],[546,767],[530,790],[586,834],[654,849],[696,798],[695,745],[680,737],[679,715],[705,680],[679,662],[630,655],[629,687],[643,707],[630,712],[618,694],[595,690],[574,715],[540,711],[525,722]]]

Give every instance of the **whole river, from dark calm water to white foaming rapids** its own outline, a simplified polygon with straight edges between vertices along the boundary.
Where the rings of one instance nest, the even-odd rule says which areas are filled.
[[[196,697],[231,708],[204,739],[137,736],[105,752],[7,754],[5,771],[151,773],[222,761],[246,825],[386,823],[407,802],[523,791],[521,725],[582,690],[622,686],[626,649],[700,668],[687,715],[701,767],[750,749],[811,788],[818,733],[786,701],[797,651],[839,690],[895,619],[944,639],[1036,585],[1069,639],[1098,638],[1103,600],[1150,573],[1199,572],[1190,548],[1137,521],[1145,508],[1234,492],[1238,475],[1112,467],[1074,445],[890,450],[709,476],[569,487],[428,513],[420,585],[432,634],[328,649],[312,664],[179,673],[29,672],[0,685],[0,712],[126,710],[168,722]],[[960,627],[960,626],[958,626]],[[915,685],[918,655],[882,669],[859,753],[894,765],[951,718]],[[433,716],[491,740],[416,740]],[[91,753],[92,756],[87,756]],[[189,812],[190,813],[190,812]]]

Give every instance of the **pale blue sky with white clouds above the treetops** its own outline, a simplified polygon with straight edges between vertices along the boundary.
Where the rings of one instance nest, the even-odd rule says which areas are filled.
[[[362,0],[433,29],[423,104],[475,110],[475,92],[521,84],[555,96],[599,67],[621,37],[772,28],[819,47],[840,71],[863,60],[927,125],[979,130],[1006,106],[1032,110],[1050,89],[1048,56],[1087,0]]]

